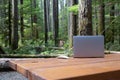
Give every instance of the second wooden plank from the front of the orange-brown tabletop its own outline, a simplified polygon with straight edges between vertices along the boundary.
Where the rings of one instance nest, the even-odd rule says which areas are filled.
[[[97,59],[97,61],[96,61]],[[116,58],[117,59],[117,58]],[[113,59],[107,59],[105,60],[104,58],[94,58],[94,59],[69,59],[69,60],[59,60],[59,59],[46,59],[46,60],[40,60],[38,62],[32,62],[31,63],[27,63],[27,61],[24,63],[18,63],[17,64],[19,66],[23,66],[24,69],[34,69],[34,68],[47,68],[47,67],[59,67],[59,66],[70,66],[70,65],[83,65],[83,64],[92,64],[92,63],[100,63],[100,62],[108,62],[108,61],[112,61]],[[32,65],[32,66],[31,66]],[[28,67],[29,66],[29,67]]]

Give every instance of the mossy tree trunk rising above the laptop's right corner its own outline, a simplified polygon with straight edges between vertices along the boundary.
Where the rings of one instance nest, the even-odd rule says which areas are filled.
[[[105,10],[104,0],[99,0],[99,12],[98,12],[98,34],[105,36]]]

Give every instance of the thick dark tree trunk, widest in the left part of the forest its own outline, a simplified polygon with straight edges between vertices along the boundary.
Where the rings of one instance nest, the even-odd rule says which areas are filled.
[[[11,47],[12,50],[18,48],[18,0],[12,0],[12,39]]]

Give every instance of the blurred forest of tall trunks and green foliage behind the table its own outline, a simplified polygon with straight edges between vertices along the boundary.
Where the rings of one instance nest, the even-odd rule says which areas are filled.
[[[120,51],[119,18],[118,0],[0,0],[0,48],[6,54],[71,55],[73,36],[103,35],[105,50]]]

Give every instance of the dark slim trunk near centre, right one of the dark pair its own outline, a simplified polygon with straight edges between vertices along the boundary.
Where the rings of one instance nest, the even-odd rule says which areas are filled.
[[[54,24],[54,40],[55,46],[59,45],[59,19],[58,19],[58,0],[53,0],[53,24]]]

